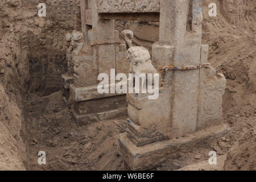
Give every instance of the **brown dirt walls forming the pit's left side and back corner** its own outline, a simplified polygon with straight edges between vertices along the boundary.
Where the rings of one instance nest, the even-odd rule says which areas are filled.
[[[38,4],[47,16],[39,18]],[[79,1],[0,2],[0,169],[26,169],[24,100],[60,90],[66,71],[65,34],[81,30]],[[25,144],[24,144],[25,143]]]

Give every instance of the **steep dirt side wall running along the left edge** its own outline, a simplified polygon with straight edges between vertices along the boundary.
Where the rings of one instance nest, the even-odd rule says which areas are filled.
[[[0,2],[0,169],[26,169],[22,140],[23,93],[29,80],[26,64],[20,63],[20,1]]]

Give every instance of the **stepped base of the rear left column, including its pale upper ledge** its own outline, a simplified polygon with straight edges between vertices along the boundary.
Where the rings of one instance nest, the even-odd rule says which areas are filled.
[[[100,94],[97,85],[79,87],[71,84],[69,87],[74,101],[72,114],[77,125],[128,117],[126,94]]]

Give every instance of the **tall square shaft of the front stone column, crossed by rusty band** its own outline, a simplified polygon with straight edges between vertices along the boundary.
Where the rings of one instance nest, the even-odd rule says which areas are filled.
[[[164,64],[168,63],[175,67],[200,64],[202,19],[200,0],[161,1],[159,47],[164,48],[163,45],[174,47],[172,59],[163,61]],[[196,131],[199,69],[172,71],[170,78],[172,79],[171,137],[175,138]]]

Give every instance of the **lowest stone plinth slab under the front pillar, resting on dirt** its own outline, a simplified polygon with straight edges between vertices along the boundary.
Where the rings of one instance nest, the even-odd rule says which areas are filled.
[[[186,151],[189,147],[199,147],[216,138],[223,137],[230,131],[226,125],[217,125],[205,130],[197,131],[187,137],[164,140],[137,147],[126,133],[117,141],[117,149],[124,162],[133,171],[153,169],[167,159],[176,158],[177,154]]]

